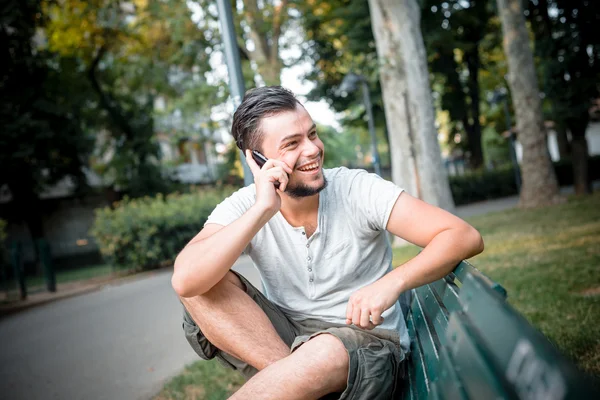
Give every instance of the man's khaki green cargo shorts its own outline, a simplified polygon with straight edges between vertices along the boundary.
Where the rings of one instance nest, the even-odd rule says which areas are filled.
[[[290,353],[322,333],[332,334],[341,340],[350,359],[348,384],[343,393],[329,395],[327,399],[383,400],[393,399],[398,395],[400,383],[404,379],[404,353],[400,348],[397,332],[379,328],[363,330],[354,325],[334,324],[316,319],[294,321],[242,275],[231,272],[246,285],[246,293],[267,314],[281,339],[290,346]],[[185,308],[183,330],[186,339],[200,358],[217,358],[221,364],[239,371],[247,378],[258,372],[251,365],[210,343]]]

